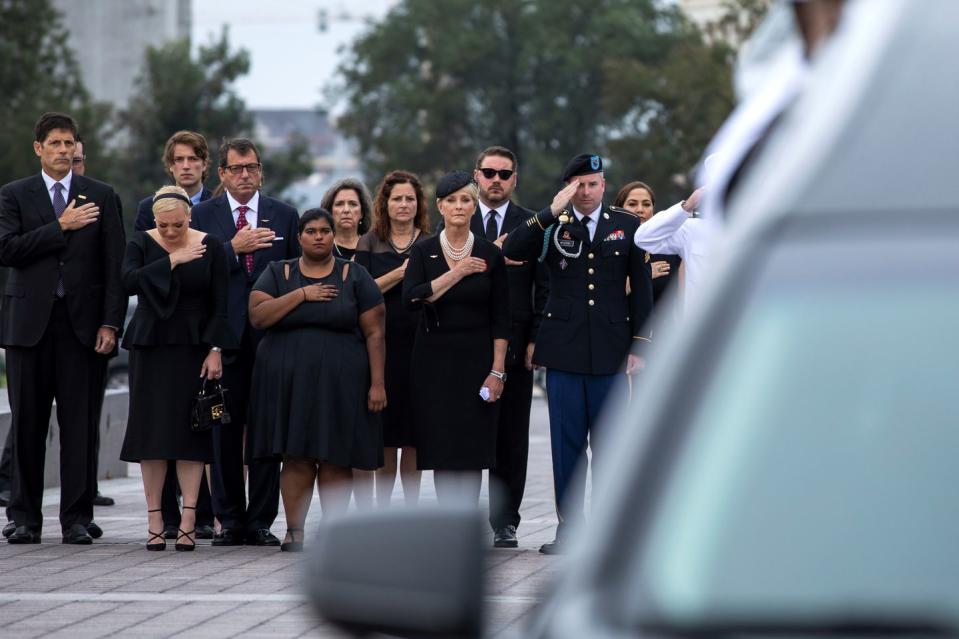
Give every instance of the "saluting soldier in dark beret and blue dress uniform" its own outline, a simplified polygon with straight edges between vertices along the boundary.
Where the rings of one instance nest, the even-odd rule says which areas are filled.
[[[549,299],[533,362],[544,366],[559,526],[540,552],[561,551],[568,525],[583,517],[585,483],[573,482],[600,409],[621,373],[641,366],[630,353],[649,341],[653,307],[649,256],[632,242],[639,220],[603,204],[603,159],[577,155],[550,206],[506,238],[504,255],[542,261]],[[626,294],[626,283],[632,293]]]

